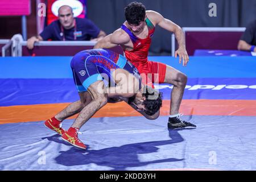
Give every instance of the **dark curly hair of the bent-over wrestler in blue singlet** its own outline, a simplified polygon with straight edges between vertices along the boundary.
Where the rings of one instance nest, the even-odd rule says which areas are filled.
[[[163,93],[158,93],[155,89],[148,86],[145,86],[144,90],[145,92],[142,93],[142,96],[146,97],[146,100],[143,101],[146,109],[145,113],[147,115],[154,115],[162,107]]]

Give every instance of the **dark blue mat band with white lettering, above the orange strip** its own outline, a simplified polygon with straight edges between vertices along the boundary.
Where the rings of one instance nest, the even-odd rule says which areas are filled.
[[[79,100],[72,78],[0,78],[0,106],[55,104]],[[170,99],[171,85],[155,85]],[[256,100],[255,78],[189,78],[184,99]]]

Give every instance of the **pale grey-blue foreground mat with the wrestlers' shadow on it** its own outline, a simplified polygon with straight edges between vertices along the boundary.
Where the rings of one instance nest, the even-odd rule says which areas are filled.
[[[86,151],[63,142],[43,122],[0,125],[0,169],[256,170],[255,117],[184,118],[197,129],[168,131],[167,117],[92,118],[81,129]]]

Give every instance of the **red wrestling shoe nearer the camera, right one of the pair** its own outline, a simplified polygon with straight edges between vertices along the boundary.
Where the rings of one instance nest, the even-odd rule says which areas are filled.
[[[66,131],[61,138],[65,140],[66,142],[72,144],[75,147],[79,147],[82,149],[86,149],[86,146],[84,143],[81,142],[81,140],[78,138],[78,132],[79,129],[75,127],[70,127],[68,131]]]

